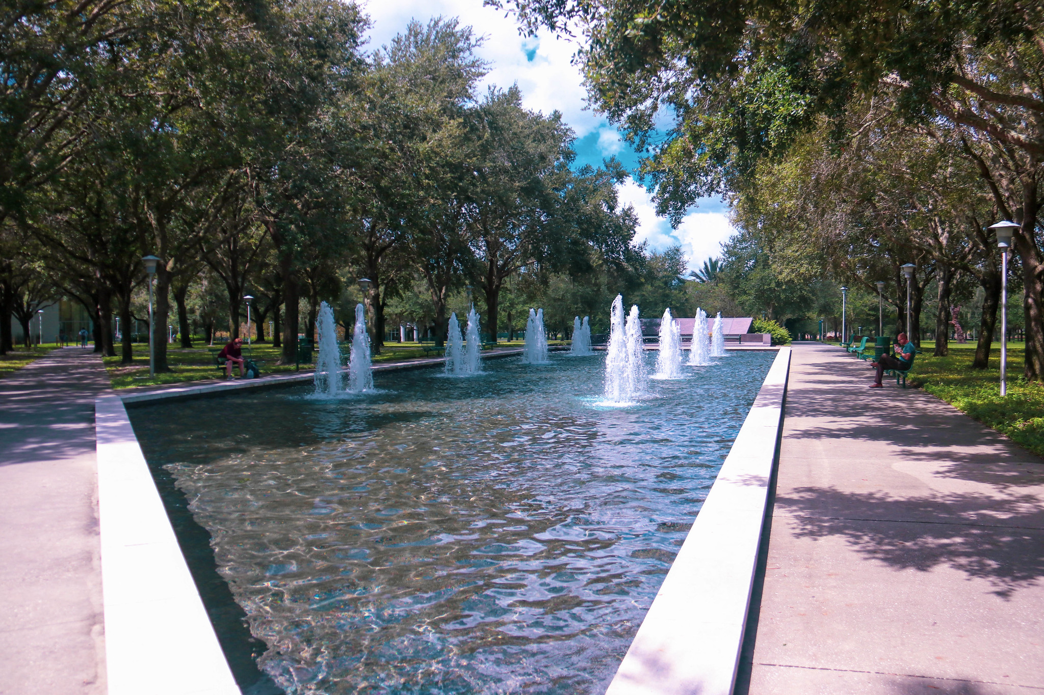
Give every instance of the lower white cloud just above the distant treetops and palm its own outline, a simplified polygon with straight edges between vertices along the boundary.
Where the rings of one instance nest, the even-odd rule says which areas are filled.
[[[671,229],[665,218],[656,214],[656,203],[649,193],[634,179],[617,187],[621,204],[634,206],[638,217],[635,243],[648,242],[649,248],[663,250],[675,244],[682,246],[690,270],[699,268],[704,260],[721,255],[721,244],[736,230],[722,213],[692,212],[682,219],[678,229]]]

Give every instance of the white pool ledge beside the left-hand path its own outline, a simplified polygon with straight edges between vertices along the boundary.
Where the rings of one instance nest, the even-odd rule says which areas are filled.
[[[241,695],[116,394],[95,441],[109,695]]]

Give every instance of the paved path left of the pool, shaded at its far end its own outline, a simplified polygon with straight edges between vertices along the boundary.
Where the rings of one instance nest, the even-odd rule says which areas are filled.
[[[51,352],[0,379],[0,693],[102,694],[94,399],[101,358]]]

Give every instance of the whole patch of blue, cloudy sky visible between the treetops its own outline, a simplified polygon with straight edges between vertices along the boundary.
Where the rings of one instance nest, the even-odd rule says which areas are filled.
[[[562,111],[565,122],[576,132],[577,164],[598,166],[604,157],[615,155],[628,169],[637,167],[637,155],[616,129],[602,116],[585,108],[579,70],[571,61],[575,43],[546,32],[523,38],[511,17],[483,7],[481,0],[370,0],[363,7],[373,22],[371,50],[388,43],[410,19],[427,22],[435,16],[459,18],[485,38],[477,51],[490,64],[484,84],[506,88],[517,83],[527,108],[545,114]],[[665,219],[656,215],[650,195],[634,180],[619,187],[619,196],[634,206],[638,216],[636,241],[647,242],[654,249],[680,244],[690,268],[719,255],[720,243],[733,233],[728,206],[716,198],[703,200],[678,229],[671,229]]]

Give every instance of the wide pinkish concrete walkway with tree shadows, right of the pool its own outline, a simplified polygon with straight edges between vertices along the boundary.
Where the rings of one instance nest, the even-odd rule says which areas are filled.
[[[1044,462],[871,381],[794,347],[737,692],[1044,692]]]

